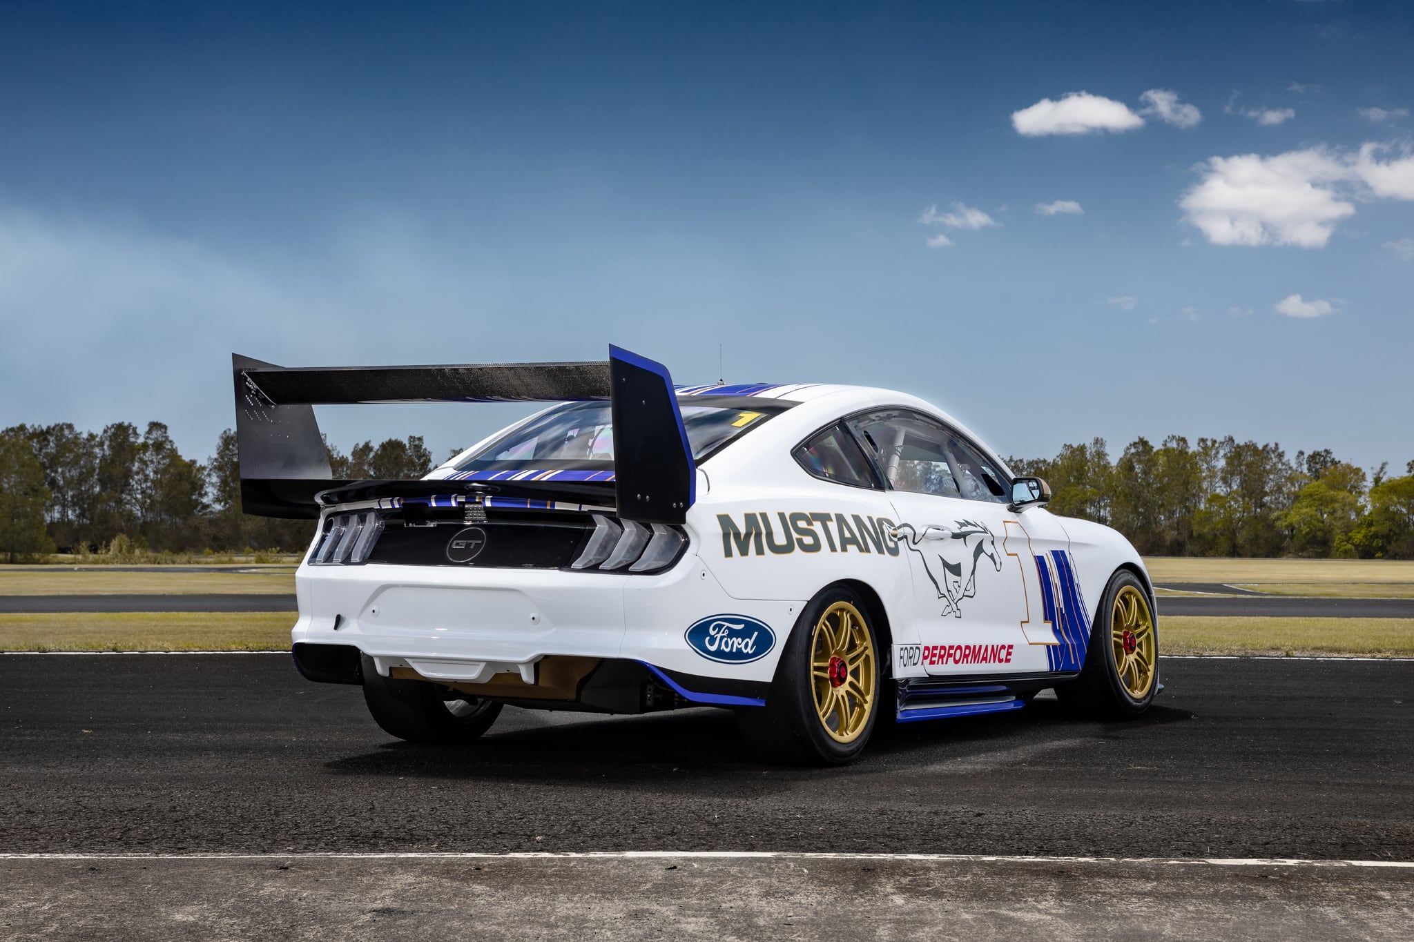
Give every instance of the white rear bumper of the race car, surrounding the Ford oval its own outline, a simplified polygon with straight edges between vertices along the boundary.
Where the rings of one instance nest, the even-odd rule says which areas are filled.
[[[665,682],[708,678],[728,682],[710,686],[732,691],[769,684],[803,604],[732,599],[693,555],[656,576],[376,564],[301,566],[296,592],[296,645],[356,648],[385,676],[393,668],[407,668],[443,682],[485,684],[501,674],[519,674],[529,684],[537,661],[559,655],[639,662],[662,672]],[[723,613],[769,624],[778,638],[773,650],[749,664],[700,655],[686,641],[687,628]],[[324,668],[314,660],[297,658],[297,664],[310,679],[328,679],[317,676]],[[331,672],[351,675],[346,668]],[[691,691],[687,684],[679,686]]]

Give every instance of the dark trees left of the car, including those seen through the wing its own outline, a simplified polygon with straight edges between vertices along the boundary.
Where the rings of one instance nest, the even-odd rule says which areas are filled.
[[[329,446],[334,476],[421,477],[433,458],[421,436]],[[52,552],[301,551],[307,520],[240,511],[236,435],[226,429],[205,460],[184,458],[163,422],[139,432],[113,422],[81,432],[71,422],[0,431],[0,559]]]

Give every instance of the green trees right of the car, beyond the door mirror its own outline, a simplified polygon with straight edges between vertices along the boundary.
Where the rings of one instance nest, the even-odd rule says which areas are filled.
[[[1051,484],[1051,510],[1114,527],[1144,555],[1414,558],[1414,460],[1372,475],[1329,449],[1169,435],[1114,460],[1103,438],[1052,459],[1008,459]]]

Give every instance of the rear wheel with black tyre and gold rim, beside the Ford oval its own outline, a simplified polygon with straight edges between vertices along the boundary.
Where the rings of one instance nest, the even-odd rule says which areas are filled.
[[[738,709],[737,725],[768,761],[843,765],[864,751],[884,692],[870,609],[853,589],[831,586],[800,610],[766,705]]]

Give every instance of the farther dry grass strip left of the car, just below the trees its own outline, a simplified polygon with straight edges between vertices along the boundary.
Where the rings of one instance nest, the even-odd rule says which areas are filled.
[[[291,566],[252,566],[253,572],[171,572],[151,566],[140,572],[0,566],[0,595],[294,595]]]

